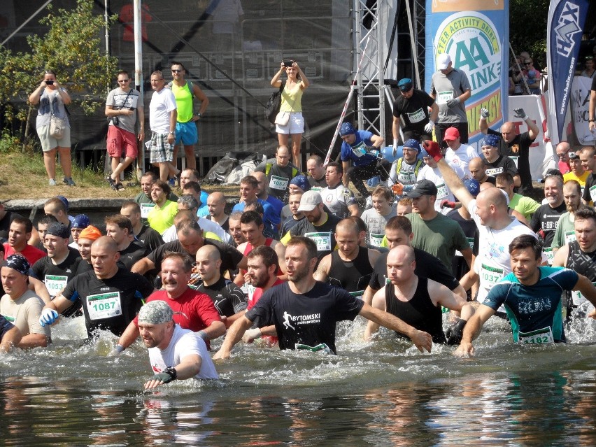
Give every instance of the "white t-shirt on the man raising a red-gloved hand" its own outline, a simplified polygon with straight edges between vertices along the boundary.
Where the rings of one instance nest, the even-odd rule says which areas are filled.
[[[480,276],[480,287],[478,288],[478,302],[483,303],[488,291],[495,283],[504,276],[511,273],[511,256],[509,255],[509,243],[517,236],[536,233],[516,218],[511,218],[511,223],[504,229],[492,229],[480,223],[476,215],[476,200],[469,203],[468,211],[476,227],[478,227],[478,257],[474,262],[474,271]],[[546,257],[542,255],[543,261]],[[499,309],[500,310],[500,309]]]

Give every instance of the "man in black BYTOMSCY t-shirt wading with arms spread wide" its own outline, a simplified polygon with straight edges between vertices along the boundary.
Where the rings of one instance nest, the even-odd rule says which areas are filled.
[[[336,353],[337,322],[353,320],[356,315],[406,334],[421,352],[430,352],[430,334],[372,308],[345,290],[315,281],[313,272],[317,254],[317,246],[311,239],[296,236],[288,241],[285,250],[288,283],[265,292],[255,307],[234,322],[214,359],[228,358],[246,329],[256,321],[260,327],[275,325],[280,349]]]

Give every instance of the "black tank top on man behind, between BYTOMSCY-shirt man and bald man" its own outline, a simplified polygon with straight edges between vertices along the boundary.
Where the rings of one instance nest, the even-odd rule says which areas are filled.
[[[334,250],[331,253],[331,267],[327,274],[327,282],[348,292],[360,292],[367,288],[372,271],[368,248],[359,247],[358,255],[353,261],[342,260],[339,250]]]

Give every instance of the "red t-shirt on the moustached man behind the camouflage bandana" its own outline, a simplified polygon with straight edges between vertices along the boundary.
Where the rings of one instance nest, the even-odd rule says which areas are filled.
[[[174,311],[174,322],[183,329],[190,329],[192,332],[199,332],[211,325],[212,322],[222,320],[211,298],[191,288],[187,288],[177,299],[169,298],[165,290],[157,290],[149,295],[146,302],[155,300],[166,301]],[[138,323],[139,316],[137,315],[134,318],[134,324],[138,326]],[[209,341],[205,341],[205,344],[208,349],[211,349]]]

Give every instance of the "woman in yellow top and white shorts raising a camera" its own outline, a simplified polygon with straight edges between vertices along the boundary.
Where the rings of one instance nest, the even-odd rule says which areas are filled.
[[[287,80],[281,80],[285,71]],[[275,120],[279,146],[288,146],[292,136],[292,162],[302,171],[300,144],[304,134],[304,118],[302,117],[302,92],[310,83],[294,60],[283,60],[279,71],[271,79],[271,87],[281,88],[281,106]]]

